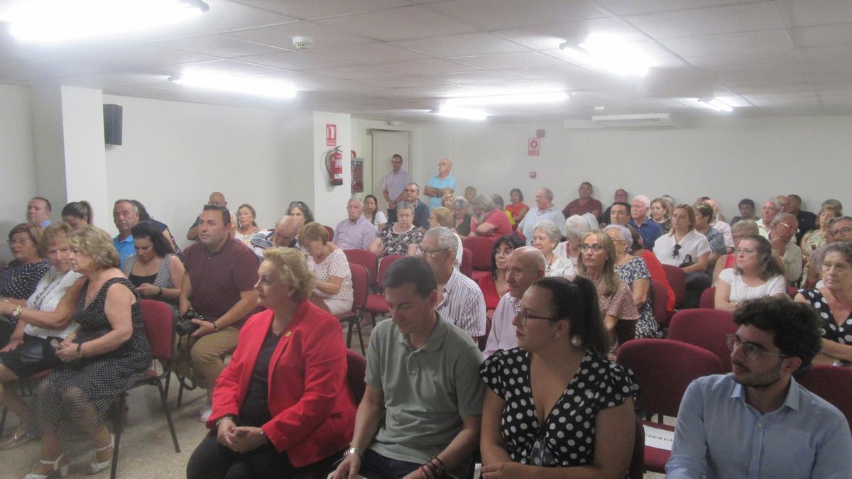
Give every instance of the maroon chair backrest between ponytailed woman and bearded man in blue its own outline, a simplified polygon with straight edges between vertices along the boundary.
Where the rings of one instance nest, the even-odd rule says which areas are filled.
[[[616,362],[630,368],[639,384],[636,409],[676,417],[683,393],[694,379],[721,374],[710,351],[669,339],[635,339],[619,348]]]

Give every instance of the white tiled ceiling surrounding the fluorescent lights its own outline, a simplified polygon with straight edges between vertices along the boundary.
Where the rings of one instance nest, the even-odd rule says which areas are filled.
[[[21,0],[0,0],[0,12]],[[178,101],[319,109],[428,121],[451,96],[563,89],[572,100],[490,108],[498,118],[605,113],[852,114],[852,0],[206,0],[198,20],[53,47],[0,28],[0,83],[71,85]],[[589,33],[631,42],[644,78],[573,65],[559,49]],[[314,38],[296,52],[295,35]],[[295,101],[203,92],[168,81],[184,69],[277,78]]]

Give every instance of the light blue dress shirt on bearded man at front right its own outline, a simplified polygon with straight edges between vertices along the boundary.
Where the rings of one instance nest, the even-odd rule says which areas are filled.
[[[677,413],[666,477],[852,477],[852,435],[843,413],[790,379],[784,405],[762,414],[730,374],[689,384]]]

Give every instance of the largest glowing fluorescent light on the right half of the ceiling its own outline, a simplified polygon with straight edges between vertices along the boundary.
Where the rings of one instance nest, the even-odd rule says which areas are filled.
[[[639,49],[612,35],[592,34],[584,43],[566,42],[559,48],[581,65],[619,75],[643,76],[651,64]]]

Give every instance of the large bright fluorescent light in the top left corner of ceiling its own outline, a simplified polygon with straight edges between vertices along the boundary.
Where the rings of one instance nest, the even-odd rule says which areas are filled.
[[[210,9],[200,0],[31,0],[10,14],[22,42],[58,43],[180,23]]]

